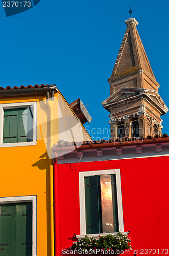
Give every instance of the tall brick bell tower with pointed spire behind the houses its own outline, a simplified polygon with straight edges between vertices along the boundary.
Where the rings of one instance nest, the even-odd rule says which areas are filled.
[[[122,44],[108,78],[110,96],[102,102],[110,112],[111,138],[161,135],[161,115],[168,111],[158,94],[148,57],[138,35],[135,18],[127,25]]]

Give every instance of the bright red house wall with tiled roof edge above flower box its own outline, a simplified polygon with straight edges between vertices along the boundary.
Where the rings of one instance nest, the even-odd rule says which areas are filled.
[[[60,143],[54,151],[70,152],[73,146]],[[76,241],[74,234],[78,239],[86,235],[85,178],[97,175],[116,177],[118,221],[117,226],[107,226],[110,229],[106,233],[126,234],[130,230],[131,246],[137,255],[167,254],[168,160],[167,135],[144,140],[86,142],[77,151],[60,157],[54,164],[55,255],[65,254]],[[88,230],[92,237],[101,233]]]

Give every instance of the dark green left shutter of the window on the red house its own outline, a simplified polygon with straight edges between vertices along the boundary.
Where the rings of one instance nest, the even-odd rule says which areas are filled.
[[[86,233],[102,233],[99,176],[85,177]]]

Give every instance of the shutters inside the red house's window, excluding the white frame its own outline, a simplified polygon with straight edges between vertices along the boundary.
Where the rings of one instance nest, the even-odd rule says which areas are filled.
[[[116,175],[85,177],[86,233],[118,232]]]

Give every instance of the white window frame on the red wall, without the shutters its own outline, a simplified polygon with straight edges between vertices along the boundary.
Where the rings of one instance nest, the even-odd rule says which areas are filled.
[[[127,235],[127,232],[124,232],[120,169],[94,170],[94,171],[90,171],[90,172],[80,172],[79,173],[80,235],[76,236],[78,239],[86,236],[85,177],[100,175],[100,174],[115,174],[116,175],[119,231],[122,232],[123,234]],[[109,233],[88,234],[88,237],[98,238],[98,236],[105,236],[106,234],[109,234]],[[115,235],[117,233],[111,233],[111,234]]]

